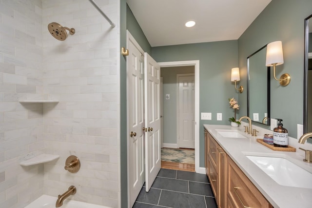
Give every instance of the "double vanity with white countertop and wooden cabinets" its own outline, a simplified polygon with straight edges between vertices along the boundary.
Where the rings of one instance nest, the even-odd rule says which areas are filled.
[[[297,152],[273,151],[256,141],[270,132],[251,136],[243,127],[204,128],[205,168],[218,207],[312,207],[312,164],[303,161],[298,140],[289,139]]]

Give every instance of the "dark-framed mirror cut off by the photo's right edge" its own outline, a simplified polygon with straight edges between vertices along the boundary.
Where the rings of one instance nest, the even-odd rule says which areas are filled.
[[[303,133],[312,132],[312,15],[305,19]],[[312,143],[312,139],[308,140]]]

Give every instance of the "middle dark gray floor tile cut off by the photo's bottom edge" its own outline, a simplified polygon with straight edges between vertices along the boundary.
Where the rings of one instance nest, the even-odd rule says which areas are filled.
[[[204,196],[162,190],[159,204],[171,208],[206,208]]]

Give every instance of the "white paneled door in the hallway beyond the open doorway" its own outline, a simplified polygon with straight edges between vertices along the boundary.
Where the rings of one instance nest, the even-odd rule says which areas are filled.
[[[195,148],[195,77],[179,76],[179,147]]]

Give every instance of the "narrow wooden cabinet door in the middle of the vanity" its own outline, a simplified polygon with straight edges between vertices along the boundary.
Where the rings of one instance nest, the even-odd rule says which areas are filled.
[[[218,145],[217,147],[217,167],[218,170],[218,206],[220,208],[226,207],[226,153]]]

